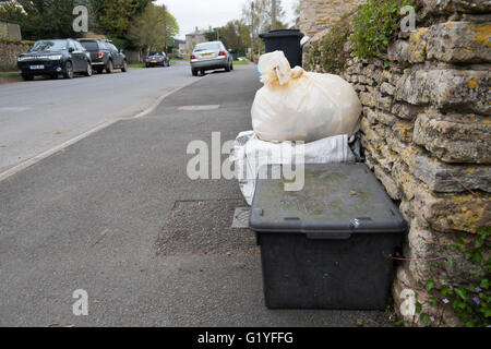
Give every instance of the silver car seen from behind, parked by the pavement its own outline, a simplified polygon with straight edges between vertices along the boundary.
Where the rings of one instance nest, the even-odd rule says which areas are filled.
[[[191,53],[191,72],[194,76],[197,72],[204,74],[207,70],[225,69],[233,70],[233,60],[230,52],[221,41],[197,44]]]

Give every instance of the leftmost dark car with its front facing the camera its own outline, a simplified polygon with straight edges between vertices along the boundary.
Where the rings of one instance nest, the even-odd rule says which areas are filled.
[[[73,79],[75,73],[92,75],[91,56],[73,39],[38,40],[31,50],[19,56],[17,67],[25,81],[36,75]]]

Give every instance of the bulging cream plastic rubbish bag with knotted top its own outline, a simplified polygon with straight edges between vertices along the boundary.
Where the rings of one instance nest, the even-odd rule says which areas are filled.
[[[261,56],[261,82],[252,105],[252,128],[268,142],[312,142],[359,130],[361,103],[338,75],[290,68],[283,51]]]

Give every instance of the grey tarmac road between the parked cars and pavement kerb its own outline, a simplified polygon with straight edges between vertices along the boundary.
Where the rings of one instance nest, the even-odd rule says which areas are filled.
[[[135,116],[195,80],[189,63],[178,62],[170,68],[0,85],[0,177],[97,127]]]

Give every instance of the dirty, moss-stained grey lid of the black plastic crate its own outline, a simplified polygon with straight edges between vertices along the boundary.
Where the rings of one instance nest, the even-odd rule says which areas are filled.
[[[249,227],[258,232],[301,232],[311,239],[347,239],[351,233],[406,230],[406,222],[364,164],[304,165],[301,191],[285,191],[285,179],[260,179],[282,170],[262,167]],[[262,174],[262,176],[261,176]]]

